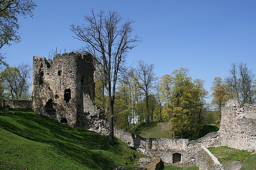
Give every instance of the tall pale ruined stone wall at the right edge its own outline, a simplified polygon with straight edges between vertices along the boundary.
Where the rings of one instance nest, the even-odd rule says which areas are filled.
[[[222,109],[219,129],[222,146],[256,150],[256,106],[228,100]]]

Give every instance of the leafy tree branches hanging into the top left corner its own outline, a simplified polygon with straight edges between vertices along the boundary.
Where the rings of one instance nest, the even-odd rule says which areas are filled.
[[[32,0],[0,0],[0,49],[20,41],[18,16],[32,17],[35,7]]]

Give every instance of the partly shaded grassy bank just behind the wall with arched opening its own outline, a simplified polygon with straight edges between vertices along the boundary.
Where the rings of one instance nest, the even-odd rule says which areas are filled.
[[[196,140],[204,137],[210,132],[217,132],[219,130],[217,125],[212,124],[199,124],[197,126],[198,135],[193,136],[193,132],[183,134],[182,138]],[[130,130],[133,133],[133,128]],[[168,130],[168,122],[143,122],[135,126],[135,134],[140,135],[143,138],[172,138],[172,133]],[[176,138],[181,138],[176,136]]]

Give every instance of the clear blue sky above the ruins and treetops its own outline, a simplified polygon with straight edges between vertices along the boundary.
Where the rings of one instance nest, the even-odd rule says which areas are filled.
[[[115,10],[135,21],[133,33],[142,43],[132,50],[127,65],[138,60],[155,64],[161,77],[186,67],[193,79],[225,78],[231,63],[246,63],[256,72],[256,1],[249,0],[35,0],[33,19],[20,17],[22,41],[1,49],[11,66],[32,64],[58,48],[66,52],[83,46],[69,30],[85,15]],[[58,52],[59,53],[59,52]]]

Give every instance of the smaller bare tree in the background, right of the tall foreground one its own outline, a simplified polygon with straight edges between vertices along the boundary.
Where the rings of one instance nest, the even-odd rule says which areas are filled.
[[[149,122],[148,115],[148,97],[149,91],[151,88],[154,88],[154,83],[157,80],[157,77],[154,73],[154,64],[148,64],[142,60],[138,62],[138,66],[135,69],[135,81],[138,83],[138,87],[141,88],[145,93],[146,98],[146,109],[147,116],[146,122]]]

